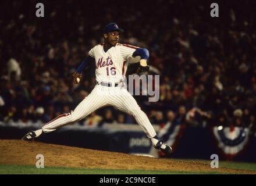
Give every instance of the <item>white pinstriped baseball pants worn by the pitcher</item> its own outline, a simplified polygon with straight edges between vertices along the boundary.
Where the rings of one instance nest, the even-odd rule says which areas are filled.
[[[42,127],[42,131],[44,133],[55,131],[59,127],[83,119],[104,106],[114,106],[116,109],[133,116],[148,138],[157,135],[147,115],[140,109],[126,88],[102,85],[95,85],[93,91],[77,105],[73,112],[59,115],[54,120],[49,121]]]

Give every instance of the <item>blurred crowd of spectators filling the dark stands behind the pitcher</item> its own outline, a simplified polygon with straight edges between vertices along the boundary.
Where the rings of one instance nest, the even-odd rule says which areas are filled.
[[[148,48],[150,71],[160,75],[160,99],[134,96],[151,122],[255,127],[256,16],[253,2],[2,1],[0,11],[0,120],[42,121],[70,112],[94,88],[94,64],[74,85],[72,73],[102,29],[116,22],[123,43]],[[147,3],[145,5],[145,3]],[[81,124],[136,123],[103,108]]]

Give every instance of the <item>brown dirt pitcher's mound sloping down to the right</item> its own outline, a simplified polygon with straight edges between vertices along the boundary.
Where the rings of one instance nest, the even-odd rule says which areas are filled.
[[[125,153],[96,151],[70,146],[0,140],[0,164],[35,165],[37,154],[44,155],[47,167],[83,167],[88,169],[137,169],[169,171],[218,171],[219,173],[256,174],[237,169],[211,169],[209,164],[173,159],[148,158]]]

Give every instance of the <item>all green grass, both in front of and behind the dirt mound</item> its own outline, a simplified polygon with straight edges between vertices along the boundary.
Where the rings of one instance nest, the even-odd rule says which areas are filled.
[[[183,162],[200,162],[210,166],[209,160],[177,159]],[[256,171],[256,163],[219,162],[219,167]],[[0,164],[0,174],[221,174],[218,169],[211,172],[187,171],[156,171],[156,170],[112,170],[112,169],[83,169],[72,167],[45,167],[37,169],[35,166],[19,166]]]

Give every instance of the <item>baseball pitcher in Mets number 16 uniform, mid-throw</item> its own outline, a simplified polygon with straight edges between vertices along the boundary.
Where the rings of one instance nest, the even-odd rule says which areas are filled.
[[[161,149],[164,153],[172,151],[169,145],[159,140],[147,115],[140,109],[140,106],[124,86],[125,74],[129,64],[139,62],[140,72],[149,69],[147,65],[149,52],[145,48],[119,44],[119,34],[122,32],[123,29],[119,28],[117,24],[108,24],[104,28],[104,44],[99,44],[92,48],[88,52],[87,58],[73,74],[73,81],[77,84],[86,66],[89,63],[95,63],[97,84],[93,91],[73,111],[59,115],[38,130],[29,131],[22,140],[33,141],[43,133],[55,131],[66,124],[84,119],[84,117],[99,108],[111,105],[132,115],[156,149]]]

